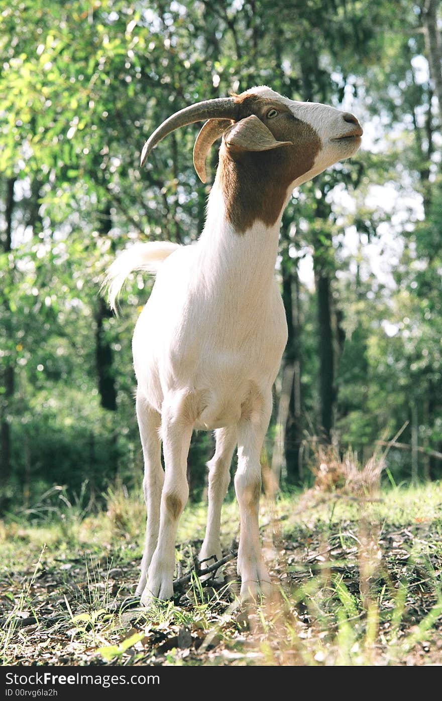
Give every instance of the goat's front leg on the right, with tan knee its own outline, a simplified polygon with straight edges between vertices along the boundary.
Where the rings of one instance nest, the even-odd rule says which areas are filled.
[[[241,599],[254,599],[271,588],[269,573],[262,559],[258,514],[261,496],[260,454],[272,412],[272,395],[255,405],[250,417],[238,427],[238,469],[235,475],[239,503],[240,533],[238,574]]]

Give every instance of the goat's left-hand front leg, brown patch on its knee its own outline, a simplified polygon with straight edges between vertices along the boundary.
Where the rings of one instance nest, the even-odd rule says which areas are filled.
[[[181,397],[167,397],[161,411],[165,478],[161,494],[158,543],[141,597],[145,606],[153,599],[170,599],[173,596],[178,519],[189,497],[187,454],[193,427],[189,424],[185,404],[186,400]]]

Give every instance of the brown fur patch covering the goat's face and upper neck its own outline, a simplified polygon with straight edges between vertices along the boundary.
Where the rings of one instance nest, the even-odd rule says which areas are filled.
[[[245,151],[223,144],[220,151],[220,179],[225,193],[227,219],[244,233],[260,220],[272,226],[277,221],[288,187],[312,168],[321,149],[321,139],[307,123],[296,119],[288,107],[257,95],[236,96],[239,118],[255,114],[278,141],[292,141],[269,151]],[[267,119],[269,109],[279,115]]]

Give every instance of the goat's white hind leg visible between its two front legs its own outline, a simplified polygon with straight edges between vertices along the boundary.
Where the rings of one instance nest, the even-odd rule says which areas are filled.
[[[206,535],[199,553],[200,561],[209,557],[213,557],[213,560],[201,564],[202,572],[206,567],[213,565],[215,560],[222,557],[220,543],[221,508],[230,482],[229,469],[236,446],[236,437],[236,426],[215,430],[215,455],[207,463],[209,473]],[[214,576],[214,573],[211,576]]]

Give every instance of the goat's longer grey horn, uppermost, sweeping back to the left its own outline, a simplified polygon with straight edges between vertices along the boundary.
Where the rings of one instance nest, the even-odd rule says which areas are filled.
[[[141,165],[145,164],[147,156],[149,156],[154,146],[170,132],[178,129],[178,127],[206,119],[236,119],[238,113],[239,105],[234,97],[218,97],[216,100],[203,100],[203,102],[196,102],[196,104],[180,109],[179,112],[175,112],[175,114],[166,119],[147,139],[147,142],[142,147]]]

